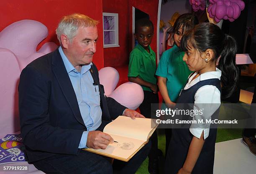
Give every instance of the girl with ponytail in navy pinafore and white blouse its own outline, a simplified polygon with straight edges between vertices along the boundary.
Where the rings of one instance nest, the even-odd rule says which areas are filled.
[[[223,97],[236,90],[236,41],[218,26],[200,23],[182,36],[181,49],[185,52],[183,61],[194,73],[177,103],[194,103],[192,110],[204,110],[200,117],[211,119],[219,111],[221,87],[229,91]],[[189,128],[173,129],[165,173],[212,174],[216,134],[217,129],[210,124],[200,127],[192,123]]]

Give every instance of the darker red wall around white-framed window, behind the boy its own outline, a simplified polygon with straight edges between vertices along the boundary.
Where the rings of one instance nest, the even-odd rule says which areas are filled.
[[[102,0],[103,12],[118,13],[120,47],[104,48],[104,67],[122,67],[128,65],[132,50],[132,7],[147,13],[154,24],[154,37],[151,48],[156,53],[156,26],[158,0]]]

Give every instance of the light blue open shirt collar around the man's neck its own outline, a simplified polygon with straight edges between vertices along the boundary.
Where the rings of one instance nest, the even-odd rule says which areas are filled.
[[[61,46],[59,46],[59,54],[61,55],[61,58],[64,62],[64,66],[67,70],[67,73],[69,74],[69,72],[75,71],[77,72],[77,70],[74,68],[74,66],[70,63],[69,59],[67,58],[67,56],[64,54]],[[83,65],[82,69],[81,69],[81,74],[84,74],[85,72],[87,72],[90,68],[91,68],[92,62],[88,65]]]

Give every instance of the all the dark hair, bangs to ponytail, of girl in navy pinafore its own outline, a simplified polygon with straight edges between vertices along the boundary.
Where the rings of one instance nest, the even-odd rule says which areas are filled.
[[[200,53],[212,49],[215,62],[221,70],[221,83],[224,91],[228,91],[224,98],[230,97],[236,90],[238,82],[238,67],[236,66],[236,40],[224,34],[220,28],[212,23],[200,23],[182,36],[181,49],[187,51],[194,48]]]

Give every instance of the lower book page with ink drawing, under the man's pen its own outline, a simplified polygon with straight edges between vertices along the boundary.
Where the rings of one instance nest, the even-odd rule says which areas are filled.
[[[95,152],[96,154],[102,154],[122,161],[128,161],[131,157],[139,151],[140,147],[143,147],[145,141],[127,138],[123,136],[117,136],[109,134],[118,143],[110,143],[106,149],[84,149],[87,151]]]

